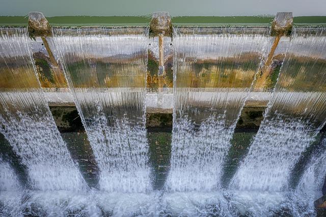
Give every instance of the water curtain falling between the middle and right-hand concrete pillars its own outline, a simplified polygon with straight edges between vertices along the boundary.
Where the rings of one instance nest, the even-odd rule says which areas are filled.
[[[170,191],[220,186],[224,158],[268,40],[268,28],[174,29]]]

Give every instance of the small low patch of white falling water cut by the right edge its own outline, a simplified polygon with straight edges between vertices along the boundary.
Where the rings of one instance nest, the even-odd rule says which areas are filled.
[[[322,196],[321,188],[326,176],[326,139],[322,141],[321,152],[315,153],[310,160],[298,186],[298,192],[313,195],[315,199]]]

